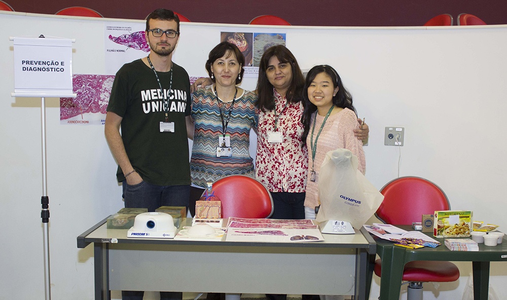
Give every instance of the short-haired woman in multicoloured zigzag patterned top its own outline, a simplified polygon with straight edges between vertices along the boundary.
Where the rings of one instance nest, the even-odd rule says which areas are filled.
[[[235,174],[255,177],[249,147],[250,129],[257,129],[257,96],[236,86],[241,83],[244,63],[236,45],[220,43],[206,61],[213,84],[192,94],[193,123],[187,124],[189,138],[194,141],[190,160],[192,215],[207,182]]]

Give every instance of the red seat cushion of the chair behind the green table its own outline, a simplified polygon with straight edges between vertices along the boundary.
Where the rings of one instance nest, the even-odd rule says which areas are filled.
[[[380,277],[381,261],[375,260],[375,275]],[[414,282],[451,282],[458,280],[459,270],[449,261],[416,260],[407,262],[403,269],[404,281]]]

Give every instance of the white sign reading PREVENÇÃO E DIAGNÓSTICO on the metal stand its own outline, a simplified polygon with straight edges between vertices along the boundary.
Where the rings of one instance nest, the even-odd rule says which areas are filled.
[[[76,97],[71,44],[59,37],[14,37],[13,96]]]

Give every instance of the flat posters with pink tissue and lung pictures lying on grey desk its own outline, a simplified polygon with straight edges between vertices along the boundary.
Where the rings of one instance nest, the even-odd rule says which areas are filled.
[[[230,218],[226,241],[318,242],[324,238],[312,220]]]

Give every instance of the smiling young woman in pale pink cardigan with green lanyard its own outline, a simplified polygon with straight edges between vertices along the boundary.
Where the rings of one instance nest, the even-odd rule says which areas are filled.
[[[336,70],[329,65],[318,65],[306,76],[302,121],[302,140],[308,148],[308,179],[306,185],[305,217],[315,219],[318,199],[318,178],[325,154],[337,148],[349,149],[358,160],[357,168],[366,169],[363,142],[354,136],[357,123],[352,96],[343,86]]]

